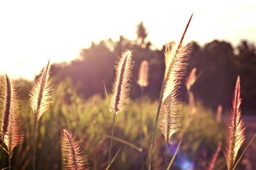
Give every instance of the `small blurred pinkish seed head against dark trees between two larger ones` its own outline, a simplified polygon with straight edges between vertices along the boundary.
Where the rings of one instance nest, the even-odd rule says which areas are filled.
[[[139,78],[137,81],[140,87],[148,86],[148,62],[147,60],[143,60],[140,64]]]

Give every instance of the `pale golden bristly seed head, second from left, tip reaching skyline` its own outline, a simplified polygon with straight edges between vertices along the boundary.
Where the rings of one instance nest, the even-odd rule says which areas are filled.
[[[33,110],[37,122],[45,111],[48,110],[52,99],[52,86],[51,79],[49,78],[50,67],[48,62],[41,76],[36,80],[29,93],[29,105]]]

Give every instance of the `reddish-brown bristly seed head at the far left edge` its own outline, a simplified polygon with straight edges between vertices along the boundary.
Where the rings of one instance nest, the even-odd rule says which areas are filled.
[[[17,99],[13,83],[6,74],[6,105],[3,117],[3,138],[4,144],[12,156],[13,148],[22,143],[24,131],[20,122],[20,115],[17,113]]]

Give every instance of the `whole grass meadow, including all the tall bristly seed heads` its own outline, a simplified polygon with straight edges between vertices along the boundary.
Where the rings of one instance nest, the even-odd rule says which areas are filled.
[[[17,163],[15,165],[22,165],[15,167],[17,169],[29,167],[30,156],[27,154],[29,148],[33,148],[33,169],[35,169],[36,148],[38,148],[38,155],[40,155],[37,161],[37,166],[40,169],[60,169],[60,162],[62,162],[62,169],[89,169],[89,164],[93,169],[103,169],[104,167],[109,169],[113,164],[117,169],[138,169],[138,167],[142,169],[143,164],[147,162],[147,158],[148,169],[152,169],[152,167],[170,169],[173,163],[175,163],[175,167],[182,168],[179,161],[175,162],[176,155],[177,159],[181,157],[182,161],[186,160],[186,163],[189,164],[188,168],[191,169],[194,167],[195,169],[209,170],[214,169],[214,167],[223,169],[224,163],[218,162],[223,138],[221,132],[222,108],[218,107],[215,118],[211,111],[205,110],[199,103],[196,103],[191,92],[191,86],[196,80],[196,69],[191,71],[185,83],[189,94],[189,106],[182,103],[179,98],[180,85],[184,81],[186,62],[189,56],[188,47],[183,47],[182,42],[192,17],[193,14],[189,18],[179,44],[170,43],[170,45],[166,45],[164,52],[166,69],[158,103],[148,100],[147,97],[144,97],[143,101],[140,99],[132,101],[130,104],[127,103],[133,67],[131,50],[125,50],[116,65],[116,78],[113,83],[110,101],[96,96],[85,102],[77,96],[68,83],[60,83],[56,88],[56,96],[53,96],[50,78],[51,66],[48,62],[29,92],[28,103],[32,110],[28,109],[27,104],[25,104],[26,101],[22,101],[22,113],[26,113],[22,115],[23,118],[20,118],[20,108],[14,83],[6,74],[1,79],[0,97],[3,99],[0,105],[3,106],[0,106],[0,108],[3,115],[1,118],[1,153],[4,150],[8,154],[8,169],[11,169],[14,148],[21,144],[24,139],[23,145],[17,147],[15,155],[15,163]],[[141,87],[142,97],[143,88],[148,85],[148,63],[146,61],[141,63],[137,83]],[[107,92],[106,97],[108,97]],[[53,104],[50,108],[51,103]],[[129,110],[125,109],[127,105],[129,105]],[[236,161],[239,148],[241,148],[245,139],[245,127],[241,119],[240,106],[240,78],[238,76],[230,120],[227,122],[227,139],[225,140],[224,155],[228,170],[236,169],[239,160],[241,160],[244,152],[256,136],[253,136]],[[109,108],[113,117],[108,115]],[[152,110],[156,109],[157,114],[154,115]],[[41,118],[47,111],[51,114],[45,114]],[[28,114],[31,112],[33,113],[33,119]],[[119,112],[125,114],[116,117]],[[142,115],[145,115],[145,117],[142,117]],[[155,116],[156,120],[154,121]],[[42,121],[39,122],[40,118]],[[112,121],[111,118],[113,118]],[[23,119],[26,122],[24,125],[22,125]],[[159,129],[163,136],[157,133],[158,119],[161,120]],[[109,127],[111,123],[112,125]],[[22,126],[26,130],[26,134],[24,134]],[[116,128],[116,136],[114,136],[114,127]],[[36,143],[37,128],[38,143]],[[70,129],[70,131],[66,129]],[[110,130],[111,136],[108,135]],[[71,131],[76,131],[76,136],[79,136],[81,141],[77,141]],[[153,136],[150,136],[150,132],[153,132]],[[58,138],[58,136],[61,136],[61,138]],[[152,142],[148,146],[151,137]],[[33,138],[33,142],[29,142],[31,138]],[[109,139],[110,145],[108,148]],[[116,141],[115,143],[113,143],[113,139]],[[182,139],[186,142],[182,143]],[[177,141],[179,141],[179,144]],[[212,143],[217,142],[216,150]],[[156,145],[155,148],[154,144]],[[173,155],[172,159],[168,161],[168,146],[171,145],[176,145],[176,148],[174,149],[175,152],[171,153]],[[165,146],[165,149],[161,146]],[[203,146],[206,146],[211,152],[214,151],[211,154],[211,159],[207,159],[205,156],[207,153],[202,150]],[[179,149],[180,152],[187,153],[188,156],[179,153]],[[111,159],[112,150],[116,151],[113,159]],[[84,151],[88,153],[89,160],[83,155]],[[139,154],[140,152],[142,154]],[[2,158],[1,153],[1,164],[3,164],[4,161],[2,160],[5,157]],[[56,154],[56,156],[55,153],[60,154]],[[120,157],[118,157],[118,154]],[[61,155],[62,158],[58,155]],[[203,155],[203,160],[200,160],[202,159],[201,155]],[[200,159],[195,157],[200,157]],[[106,165],[107,159],[108,164]],[[141,161],[139,162],[138,159]],[[152,160],[156,161],[153,162]],[[51,163],[47,164],[47,162]]]

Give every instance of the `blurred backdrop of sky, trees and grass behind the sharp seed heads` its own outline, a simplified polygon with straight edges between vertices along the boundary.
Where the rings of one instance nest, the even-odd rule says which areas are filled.
[[[73,130],[72,132],[86,143],[87,148],[84,147],[84,152],[88,155],[93,169],[102,169],[106,166],[104,157],[108,154],[109,141],[98,136],[109,134],[111,127],[111,113],[108,113],[108,104],[104,101],[103,81],[110,93],[115,78],[115,62],[127,48],[133,51],[135,62],[130,95],[131,106],[134,108],[125,115],[118,115],[120,126],[117,125],[116,136],[146,149],[143,157],[147,165],[148,141],[152,134],[156,102],[163,80],[165,44],[179,41],[193,12],[194,16],[186,33],[184,45],[191,48],[188,74],[196,67],[197,79],[191,91],[200,113],[191,121],[205,121],[205,127],[209,129],[202,125],[204,131],[201,131],[202,129],[196,127],[200,122],[195,122],[194,130],[198,132],[195,133],[198,138],[191,134],[191,129],[188,131],[187,138],[191,139],[192,146],[184,144],[184,153],[180,157],[190,157],[186,161],[191,169],[205,169],[207,161],[211,160],[211,155],[216,150],[218,139],[214,137],[220,135],[222,139],[220,131],[225,131],[221,124],[222,130],[215,129],[216,131],[209,132],[213,131],[212,128],[217,124],[214,120],[216,110],[218,105],[221,105],[223,114],[227,115],[231,108],[237,75],[241,76],[241,107],[248,127],[246,132],[251,136],[256,131],[255,1],[0,2],[0,73],[8,73],[16,80],[23,101],[22,114],[25,123],[33,119],[27,106],[32,82],[40,75],[49,59],[52,64],[51,75],[56,96],[49,111],[51,113],[45,114],[40,123],[41,135],[38,136],[40,142],[36,152],[38,169],[60,169],[60,148],[53,145],[54,141],[60,141],[60,130],[63,127]],[[136,82],[143,60],[147,60],[149,64],[149,84],[141,98],[141,89]],[[183,84],[180,97],[184,101],[182,111],[185,114],[188,110],[188,95]],[[141,103],[141,99],[144,99],[145,103]],[[152,107],[151,111],[150,108],[143,111],[147,115],[143,119],[143,144],[136,136],[138,129],[128,125],[129,121],[132,124],[133,118],[136,120],[136,117],[139,117],[136,112],[140,112],[140,107],[136,108],[136,104]],[[95,118],[95,114],[99,114],[99,117]],[[208,117],[207,114],[211,116]],[[93,118],[95,122],[91,121]],[[127,120],[127,125],[122,127],[124,120]],[[95,124],[97,127],[104,124],[106,127],[92,129],[89,124]],[[25,125],[25,129],[26,141],[19,150],[17,149],[17,159],[13,161],[17,169],[29,169],[31,166],[28,148],[31,144],[30,125]],[[54,131],[51,132],[52,129]],[[95,140],[97,142],[93,143]],[[164,146],[161,146],[163,139],[157,140],[159,143],[156,144],[156,148],[162,148],[155,151],[156,158],[157,154],[161,155],[164,150]],[[88,146],[88,143],[92,146]],[[115,145],[114,148],[117,150],[118,143]],[[255,145],[253,143],[252,146],[256,149]],[[201,146],[205,146],[205,149],[200,149]],[[49,149],[43,150],[44,147]],[[102,149],[104,147],[106,150]],[[50,148],[54,148],[52,152],[58,156],[51,157]],[[129,147],[126,149],[124,146],[125,151],[120,153],[120,160],[116,160],[114,168],[140,169],[140,164],[134,162],[138,158],[127,159],[131,155],[136,155],[136,152],[130,152]],[[23,154],[24,160],[19,160],[19,153]],[[101,158],[99,154],[102,154]],[[202,157],[205,162],[199,161]],[[254,160],[255,155],[253,158],[253,154],[249,154],[244,160],[249,161],[246,167],[253,168]],[[3,167],[4,164],[5,162],[1,162]],[[181,164],[178,161],[175,167],[189,169],[186,166],[182,167]],[[218,163],[220,169],[225,167],[223,164],[225,160],[221,155]],[[161,166],[163,160],[157,159],[155,169],[161,169]]]

